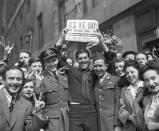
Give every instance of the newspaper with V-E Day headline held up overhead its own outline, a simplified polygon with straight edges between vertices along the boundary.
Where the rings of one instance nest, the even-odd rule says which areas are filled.
[[[66,41],[99,42],[99,24],[96,20],[68,20]]]

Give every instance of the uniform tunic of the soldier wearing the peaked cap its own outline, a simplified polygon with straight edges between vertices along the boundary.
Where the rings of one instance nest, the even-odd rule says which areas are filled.
[[[45,71],[42,81],[42,92],[49,117],[47,131],[69,131],[68,81],[66,75],[56,75]]]

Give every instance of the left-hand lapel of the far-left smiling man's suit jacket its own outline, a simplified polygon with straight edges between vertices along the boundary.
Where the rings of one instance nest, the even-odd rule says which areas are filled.
[[[2,107],[2,111],[4,113],[4,116],[6,118],[6,120],[8,121],[8,123],[10,124],[10,111],[9,111],[9,107],[8,107],[8,102],[7,102],[7,98],[4,94],[4,90],[1,89],[0,91],[0,100],[1,100],[1,107]]]

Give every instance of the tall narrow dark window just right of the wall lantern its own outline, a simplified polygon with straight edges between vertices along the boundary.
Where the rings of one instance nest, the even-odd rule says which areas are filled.
[[[38,18],[38,48],[42,48],[43,46],[43,15],[39,14]]]

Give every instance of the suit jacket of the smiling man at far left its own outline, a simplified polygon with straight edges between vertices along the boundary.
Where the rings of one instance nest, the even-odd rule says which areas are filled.
[[[24,121],[31,113],[32,104],[19,96],[16,99],[13,112],[10,113],[4,90],[0,90],[0,131],[23,131]]]

